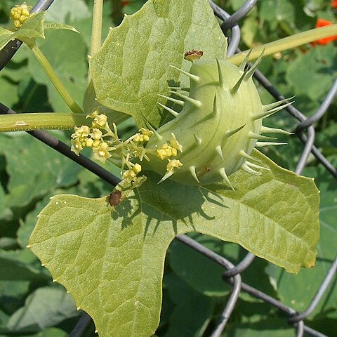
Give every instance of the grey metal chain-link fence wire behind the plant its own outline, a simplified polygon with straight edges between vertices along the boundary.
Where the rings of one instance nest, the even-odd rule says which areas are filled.
[[[45,11],[46,9],[48,9],[49,6],[51,6],[53,1],[54,0],[40,0],[34,6],[33,11],[34,12]],[[221,29],[223,30],[223,33],[227,37],[229,37],[228,40],[229,43],[227,48],[228,56],[233,55],[236,52],[239,52],[238,46],[241,37],[239,22],[240,20],[246,17],[247,13],[251,11],[251,8],[253,8],[253,6],[256,5],[256,2],[257,0],[247,0],[242,5],[241,8],[239,8],[235,13],[232,13],[232,15],[230,15],[229,13],[225,12],[222,8],[220,8],[218,5],[213,3],[213,1],[209,0],[209,4],[213,9],[214,14],[223,22],[220,25]],[[11,58],[18,50],[20,45],[21,45],[20,41],[17,40],[12,41],[10,44],[6,46],[6,48],[4,48],[0,52],[0,60],[1,60],[0,70],[9,62],[9,60],[11,60]],[[276,100],[284,99],[282,93],[279,93],[277,88],[275,88],[275,86],[273,86],[273,84],[271,84],[270,81],[268,81],[268,79],[260,71],[256,70],[254,77]],[[298,138],[303,142],[303,152],[300,155],[300,159],[298,161],[298,165],[295,170],[296,173],[298,174],[302,173],[307,163],[308,157],[310,153],[312,153],[317,158],[317,161],[319,161],[319,163],[325,167],[326,171],[328,171],[331,174],[331,176],[333,176],[333,178],[337,179],[336,168],[324,157],[324,155],[314,145],[315,126],[313,125],[315,122],[319,121],[319,119],[322,119],[322,117],[328,110],[329,106],[333,102],[336,93],[337,93],[337,79],[334,81],[333,86],[331,86],[331,89],[329,93],[326,95],[326,98],[324,99],[322,105],[315,112],[315,114],[312,114],[312,116],[310,117],[305,117],[305,115],[299,110],[297,110],[295,107],[293,107],[293,105],[289,105],[288,107],[285,108],[294,119],[297,119],[299,121],[299,123],[294,121],[295,126],[294,129],[296,136],[298,136]],[[5,105],[0,103],[0,114],[15,114],[15,112],[11,110],[11,108],[6,107]],[[60,152],[69,159],[72,159],[73,161],[77,162],[77,164],[83,166],[85,169],[88,169],[92,173],[95,173],[95,175],[99,176],[107,183],[110,183],[110,185],[115,186],[117,185],[117,183],[119,183],[120,181],[119,178],[112,175],[112,173],[106,171],[98,164],[95,164],[93,161],[91,161],[91,159],[88,159],[87,157],[81,154],[77,156],[76,154],[74,154],[74,152],[70,150],[69,146],[67,146],[65,143],[62,143],[60,140],[58,140],[58,138],[55,138],[44,131],[27,131],[27,132],[34,138],[39,139],[44,144],[52,147],[54,150]],[[213,260],[214,262],[223,266],[224,268],[223,281],[232,285],[230,297],[228,298],[227,303],[224,303],[222,315],[220,316],[218,324],[213,330],[213,333],[211,333],[211,337],[221,336],[228,322],[228,319],[230,319],[230,316],[237,304],[239,294],[242,291],[249,293],[251,296],[263,300],[265,303],[277,308],[278,310],[285,312],[286,315],[289,316],[288,317],[289,324],[291,324],[293,326],[293,329],[296,331],[296,336],[301,337],[303,336],[304,333],[307,333],[309,336],[328,337],[324,333],[321,333],[315,329],[310,328],[309,326],[306,326],[305,319],[315,310],[319,301],[324,296],[324,293],[326,293],[329,287],[333,284],[333,280],[337,272],[337,255],[336,258],[331,263],[328,272],[326,272],[326,275],[324,277],[322,276],[322,282],[319,288],[317,289],[316,293],[310,294],[312,296],[312,300],[310,302],[310,305],[308,305],[308,308],[306,308],[306,310],[304,310],[303,312],[297,312],[288,305],[284,305],[281,301],[272,298],[271,296],[267,295],[266,293],[263,293],[262,291],[259,291],[256,288],[253,288],[252,286],[249,286],[249,284],[245,284],[244,282],[242,282],[242,277],[240,274],[244,272],[244,270],[249,268],[249,266],[253,262],[255,256],[252,253],[247,253],[246,256],[239,263],[237,263],[237,265],[234,265],[233,263],[230,262],[230,260],[227,260],[223,256],[214,253],[210,249],[206,248],[202,244],[199,244],[199,242],[195,241],[194,239],[188,237],[185,234],[176,237],[176,239],[178,239],[180,242],[183,242],[183,244],[189,246],[191,249],[194,249],[195,251],[198,251],[199,253],[203,254],[210,260]],[[291,284],[289,286],[291,286]],[[74,326],[74,329],[72,330],[72,333],[70,333],[70,336],[71,337],[84,336],[87,330],[90,328],[90,326],[92,326],[91,317],[88,316],[86,312],[84,312],[84,314],[81,316],[77,324]]]

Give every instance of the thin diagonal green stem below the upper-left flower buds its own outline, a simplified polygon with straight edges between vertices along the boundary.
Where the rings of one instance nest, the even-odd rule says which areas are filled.
[[[70,110],[74,113],[84,113],[84,111],[79,107],[79,105],[76,103],[74,98],[70,95],[70,93],[67,91],[67,88],[62,84],[62,81],[58,78],[58,75],[54,72],[53,67],[47,60],[44,53],[42,53],[41,49],[36,45],[29,46],[29,48],[32,49],[32,52],[34,53],[37,60],[40,62],[41,66],[44,68],[44,71],[48,75],[49,79],[55,86],[56,90],[60,93],[63,100],[65,100],[65,103],[67,103],[68,107],[70,107]]]

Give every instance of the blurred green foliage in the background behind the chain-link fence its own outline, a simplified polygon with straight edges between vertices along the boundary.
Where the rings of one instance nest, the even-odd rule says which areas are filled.
[[[49,22],[64,22],[82,34],[58,34],[40,41],[58,75],[74,98],[80,101],[86,85],[88,44],[90,42],[91,2],[57,0],[48,11]],[[112,7],[119,1],[105,1],[105,35],[109,25],[121,20],[121,12]],[[145,1],[131,0],[121,8],[133,13]],[[244,1],[217,1],[232,13]],[[0,0],[0,24],[8,24],[8,11],[14,1]],[[263,0],[240,22],[242,49],[253,44],[274,41],[298,31],[315,27],[317,18],[336,21],[331,2],[325,0]],[[61,35],[60,35],[61,34]],[[52,42],[51,42],[52,41]],[[76,48],[72,48],[76,46]],[[336,78],[336,44],[303,46],[275,57],[265,58],[259,69],[285,96],[296,95],[295,106],[306,115],[315,112]],[[263,103],[272,98],[262,89]],[[0,72],[0,102],[17,112],[68,111],[41,67],[22,46],[8,66]],[[317,146],[333,164],[337,164],[336,101],[317,124]],[[292,131],[295,124],[286,112],[267,119],[268,126]],[[135,130],[131,120],[124,122],[126,137]],[[67,142],[69,133],[55,132]],[[296,137],[289,146],[267,150],[279,165],[295,169],[302,145]],[[111,171],[115,169],[109,168]],[[304,310],[315,294],[329,263],[336,253],[336,181],[310,157],[305,176],[315,177],[321,190],[321,239],[317,265],[289,275],[275,265],[256,258],[243,273],[244,282],[279,298],[296,310]],[[36,223],[37,214],[55,194],[79,194],[101,197],[112,187],[81,169],[62,155],[24,133],[0,134],[0,336],[67,336],[77,322],[79,312],[62,286],[51,281],[46,268],[25,248]],[[194,239],[233,263],[246,251],[237,244],[193,234]],[[196,273],[196,270],[200,271]],[[222,268],[203,256],[173,242],[169,247],[164,273],[164,302],[157,336],[208,336],[226,303],[230,287],[221,281]],[[336,283],[336,280],[335,280]],[[333,336],[337,324],[337,288],[327,292],[307,324]],[[242,293],[224,336],[294,336],[286,317],[269,305]],[[182,332],[183,331],[183,332]]]

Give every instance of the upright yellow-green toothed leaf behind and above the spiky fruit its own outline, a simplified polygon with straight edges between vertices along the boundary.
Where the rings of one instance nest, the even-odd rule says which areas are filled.
[[[186,86],[187,77],[169,65],[188,70],[183,55],[192,48],[204,58],[225,58],[227,42],[209,1],[147,1],[110,30],[90,61],[98,102],[131,114],[138,126],[146,127],[143,117],[159,126],[166,114],[158,112],[157,93],[169,93],[168,80]]]

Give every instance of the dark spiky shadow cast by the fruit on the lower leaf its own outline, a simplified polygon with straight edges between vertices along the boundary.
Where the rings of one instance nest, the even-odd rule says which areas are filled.
[[[210,207],[205,211],[205,204],[227,208],[223,198],[211,190],[181,185],[171,180],[165,180],[158,185],[160,177],[156,173],[147,172],[146,176],[147,181],[140,188],[124,192],[121,203],[112,211],[112,218],[114,220],[121,218],[123,228],[133,225],[133,220],[143,213],[144,237],[149,234],[150,228],[154,235],[161,223],[167,225],[167,222],[173,225],[176,235],[178,235],[178,222],[194,231],[194,221],[197,218],[210,221],[216,218],[215,214],[209,213]]]

